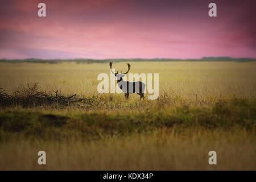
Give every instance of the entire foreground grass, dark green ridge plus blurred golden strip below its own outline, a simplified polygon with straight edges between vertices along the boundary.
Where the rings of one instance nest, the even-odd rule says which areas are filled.
[[[256,101],[143,110],[0,110],[0,169],[253,169]],[[47,153],[39,166],[37,153]],[[217,152],[217,166],[208,152]]]

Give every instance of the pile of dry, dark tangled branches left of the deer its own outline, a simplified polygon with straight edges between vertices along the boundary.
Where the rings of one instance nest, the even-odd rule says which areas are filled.
[[[0,88],[0,107],[93,107],[101,104],[97,96],[79,98],[76,94],[62,96],[58,90],[55,94],[39,90],[38,84],[27,84],[26,87],[15,89],[12,95]]]

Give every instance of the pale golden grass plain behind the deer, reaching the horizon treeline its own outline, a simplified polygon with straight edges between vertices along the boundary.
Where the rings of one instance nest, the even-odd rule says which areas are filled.
[[[127,69],[125,63],[113,67]],[[195,94],[198,99],[220,94],[248,98],[256,93],[255,69],[256,62],[133,62],[130,73],[159,73],[160,94],[165,91],[187,99],[194,99]],[[10,93],[16,86],[39,82],[42,88],[63,94],[88,96],[97,93],[99,73],[110,75],[109,65],[0,63],[0,86]],[[137,100],[139,96],[131,97]]]

